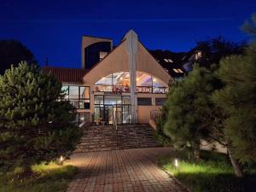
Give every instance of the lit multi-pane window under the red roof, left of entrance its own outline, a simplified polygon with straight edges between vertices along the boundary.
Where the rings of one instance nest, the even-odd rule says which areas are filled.
[[[61,90],[66,93],[65,99],[75,108],[90,108],[90,87],[63,85]]]

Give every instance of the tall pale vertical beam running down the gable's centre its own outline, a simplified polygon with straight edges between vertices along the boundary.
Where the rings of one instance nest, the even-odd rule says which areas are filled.
[[[137,123],[137,80],[136,55],[138,49],[137,33],[129,31],[125,34],[126,49],[129,54],[130,84],[131,84],[131,123]]]

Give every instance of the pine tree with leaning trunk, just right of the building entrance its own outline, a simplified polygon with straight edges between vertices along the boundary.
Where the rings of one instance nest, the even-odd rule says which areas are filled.
[[[230,137],[224,130],[224,113],[212,101],[212,94],[220,90],[222,83],[213,75],[217,66],[211,70],[195,66],[193,71],[170,90],[166,108],[168,119],[166,134],[172,138],[177,148],[191,148],[196,153],[202,140],[218,142],[229,150],[230,162],[237,177],[242,177],[241,165],[234,157]]]

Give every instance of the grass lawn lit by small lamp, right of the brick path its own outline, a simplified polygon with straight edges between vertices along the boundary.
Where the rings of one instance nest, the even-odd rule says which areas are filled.
[[[174,158],[178,159],[178,168]],[[246,177],[235,177],[225,154],[201,152],[201,160],[186,160],[184,154],[160,156],[160,166],[194,192],[255,192],[256,169],[246,169]],[[255,166],[253,166],[255,167]]]

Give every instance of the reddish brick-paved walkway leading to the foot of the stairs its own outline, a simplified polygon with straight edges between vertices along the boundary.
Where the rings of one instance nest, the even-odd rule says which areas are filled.
[[[136,148],[73,154],[69,164],[79,174],[67,192],[187,192],[155,163],[171,148]]]

